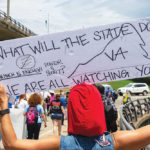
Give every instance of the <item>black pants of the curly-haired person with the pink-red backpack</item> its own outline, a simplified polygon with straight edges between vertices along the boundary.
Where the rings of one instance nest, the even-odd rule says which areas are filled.
[[[41,123],[27,124],[28,139],[38,139],[40,128],[41,128]]]

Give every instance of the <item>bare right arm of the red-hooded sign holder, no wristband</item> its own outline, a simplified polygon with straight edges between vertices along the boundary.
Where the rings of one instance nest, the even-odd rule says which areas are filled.
[[[115,150],[139,150],[150,144],[150,125],[113,133]]]

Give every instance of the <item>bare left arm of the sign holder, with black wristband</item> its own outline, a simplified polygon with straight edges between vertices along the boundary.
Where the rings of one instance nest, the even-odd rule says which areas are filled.
[[[0,84],[0,110],[8,109],[6,90]],[[16,137],[9,114],[1,116],[2,141],[6,150],[59,150],[60,137],[49,136],[40,140],[19,140]]]

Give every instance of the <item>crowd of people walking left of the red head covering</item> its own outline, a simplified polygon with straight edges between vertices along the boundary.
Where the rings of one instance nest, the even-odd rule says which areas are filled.
[[[13,101],[12,101],[13,102]],[[61,127],[64,125],[66,96],[62,90],[57,94],[50,90],[47,95],[44,92],[33,93],[30,96],[22,94],[17,96],[9,108],[24,110],[26,118],[27,139],[39,139],[41,124],[47,127],[47,117],[50,117],[53,124],[53,135],[61,135]],[[58,129],[58,130],[57,130]]]

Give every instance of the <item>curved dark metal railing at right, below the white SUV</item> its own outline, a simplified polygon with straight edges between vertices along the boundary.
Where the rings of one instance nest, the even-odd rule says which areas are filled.
[[[148,124],[150,124],[150,97],[131,101],[120,109],[121,130],[134,130]],[[144,149],[150,150],[150,145]]]

